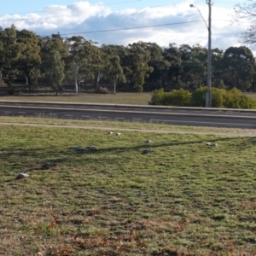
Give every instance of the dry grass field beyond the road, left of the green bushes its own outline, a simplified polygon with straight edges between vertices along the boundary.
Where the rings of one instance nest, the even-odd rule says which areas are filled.
[[[80,93],[79,95],[23,95],[23,96],[1,96],[1,101],[21,101],[21,102],[80,102],[80,103],[110,103],[110,104],[131,104],[148,105],[151,99],[150,93],[117,93],[98,94]]]

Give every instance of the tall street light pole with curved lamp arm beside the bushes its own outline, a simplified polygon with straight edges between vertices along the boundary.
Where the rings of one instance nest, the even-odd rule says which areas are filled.
[[[212,0],[207,0],[209,6],[209,18],[208,26],[204,17],[201,15],[201,11],[194,5],[190,4],[190,7],[196,8],[201,18],[205,21],[208,30],[208,61],[207,61],[207,95],[206,95],[206,108],[212,108]]]

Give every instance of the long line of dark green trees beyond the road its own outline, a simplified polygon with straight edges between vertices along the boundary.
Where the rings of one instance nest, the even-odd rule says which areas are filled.
[[[95,89],[113,84],[114,92],[195,90],[207,84],[207,49],[199,44],[160,47],[146,42],[98,45],[82,36],[40,37],[15,26],[0,27],[0,84],[11,87],[17,79],[27,90],[33,84],[48,84],[56,94],[63,84],[73,84],[76,93],[81,84],[94,84]],[[252,51],[245,46],[212,49],[212,86],[256,90]]]

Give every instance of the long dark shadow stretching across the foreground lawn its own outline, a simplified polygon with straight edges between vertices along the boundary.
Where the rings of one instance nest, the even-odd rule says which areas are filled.
[[[207,140],[209,143],[215,143],[218,141],[220,142],[226,142],[233,140],[232,137],[225,137],[217,139],[210,139]],[[255,138],[251,138],[252,143],[256,143]],[[8,148],[8,149],[0,149],[0,161],[9,161],[11,159],[12,165],[15,166],[15,163],[22,163],[24,164],[27,161],[31,162],[31,165],[25,166],[35,166],[35,165],[41,165],[44,162],[54,162],[56,165],[58,164],[80,164],[79,156],[85,155],[85,156],[99,156],[102,157],[102,159],[96,159],[94,158],[83,158],[81,161],[97,161],[97,162],[108,162],[108,163],[114,163],[119,158],[119,154],[126,153],[126,152],[137,152],[137,154],[142,154],[142,151],[144,148],[150,148],[155,153],[158,150],[164,151],[166,147],[175,147],[175,146],[181,146],[181,145],[191,145],[191,148],[193,148],[196,144],[202,144],[206,143],[205,140],[197,140],[197,141],[190,141],[190,142],[181,142],[181,143],[159,143],[159,144],[140,144],[136,146],[131,147],[110,147],[110,148],[99,148],[98,151],[91,152],[91,151],[76,151],[74,146],[73,148]],[[206,146],[207,147],[207,146]],[[249,144],[247,144],[247,147],[250,147]],[[209,148],[209,147],[207,147]],[[108,158],[108,154],[112,154],[112,157]],[[115,154],[115,157],[113,157],[113,154]]]

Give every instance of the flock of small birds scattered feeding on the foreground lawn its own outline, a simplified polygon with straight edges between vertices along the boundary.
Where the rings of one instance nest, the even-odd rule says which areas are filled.
[[[113,135],[113,131],[108,131],[108,135]],[[117,133],[115,133],[115,135],[120,136],[121,133],[117,132]],[[152,143],[152,141],[148,139],[148,140],[145,141],[145,143]],[[217,143],[206,143],[206,145],[207,146],[212,146],[212,147],[217,147],[218,146]],[[82,146],[78,146],[78,147],[75,148],[75,150],[79,151],[79,152],[84,152],[84,151],[94,152],[94,151],[98,151],[99,149],[96,148],[95,146],[90,146],[90,147],[86,147],[86,148],[84,148]],[[148,154],[150,152],[152,152],[152,150],[150,148],[145,148],[145,149],[143,149],[142,154]],[[46,169],[50,169],[54,166],[55,166],[54,163],[46,162],[41,166],[41,169],[46,170]],[[23,179],[23,178],[26,178],[26,177],[29,177],[29,174],[21,172],[18,175],[16,175],[15,179]]]

